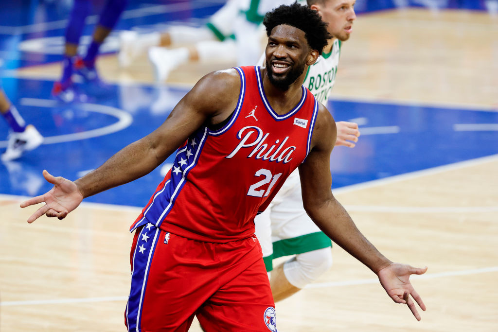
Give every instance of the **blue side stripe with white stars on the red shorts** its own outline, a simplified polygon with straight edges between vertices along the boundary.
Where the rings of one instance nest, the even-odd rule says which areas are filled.
[[[150,230],[152,228],[152,230]],[[154,232],[153,236],[148,236],[147,232]],[[151,223],[140,230],[136,239],[135,252],[133,253],[131,288],[126,304],[126,324],[128,331],[141,331],[140,318],[143,305],[143,296],[147,288],[147,278],[149,275],[150,262],[154,256],[157,239],[160,229]],[[145,235],[145,236],[144,236]],[[147,241],[148,238],[152,240]]]

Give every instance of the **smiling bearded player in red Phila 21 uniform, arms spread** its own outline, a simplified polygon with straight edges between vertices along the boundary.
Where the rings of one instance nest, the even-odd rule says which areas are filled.
[[[28,222],[43,214],[63,219],[85,197],[147,174],[179,146],[131,226],[128,331],[186,331],[194,315],[208,332],[276,331],[253,219],[298,166],[313,221],[372,269],[395,302],[420,319],[411,294],[425,310],[409,276],[426,268],[385,258],[332,196],[335,122],[302,86],[330,38],[325,23],[295,3],[269,12],[264,24],[266,68],[206,75],[151,134],[75,182],[44,171],[54,188],[21,203],[46,203]]]

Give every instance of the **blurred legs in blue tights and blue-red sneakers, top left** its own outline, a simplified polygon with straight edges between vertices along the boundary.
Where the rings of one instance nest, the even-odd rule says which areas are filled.
[[[73,8],[66,28],[66,45],[62,60],[62,77],[54,83],[52,95],[63,102],[82,101],[85,95],[79,94],[73,85],[73,73],[81,76],[85,82],[102,85],[95,61],[99,48],[118,22],[128,0],[107,0],[95,27],[93,39],[82,58],[78,54],[80,37],[85,27],[85,19],[90,13],[91,0],[74,0]]]

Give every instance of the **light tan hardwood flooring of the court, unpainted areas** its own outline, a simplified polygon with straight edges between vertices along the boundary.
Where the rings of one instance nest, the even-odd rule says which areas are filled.
[[[496,111],[497,26],[496,17],[468,11],[360,16],[343,47],[334,96]],[[140,74],[146,62],[121,71],[115,57],[102,60],[111,80],[150,82]],[[46,69],[19,75],[58,77]],[[192,84],[201,75],[182,70],[170,82]],[[334,246],[332,269],[277,304],[279,331],[497,331],[498,156],[335,194],[387,257],[429,267],[412,280],[427,312],[417,322],[372,272]],[[33,209],[18,204],[17,197],[0,200],[0,331],[124,331],[127,228],[139,209],[84,204],[65,221],[28,225]]]

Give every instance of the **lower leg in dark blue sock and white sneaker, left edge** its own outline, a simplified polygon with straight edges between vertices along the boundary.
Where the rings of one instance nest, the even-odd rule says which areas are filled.
[[[43,136],[32,124],[26,124],[21,114],[5,96],[1,86],[0,113],[10,129],[7,149],[1,154],[1,161],[17,159],[25,151],[35,149],[43,142]]]

